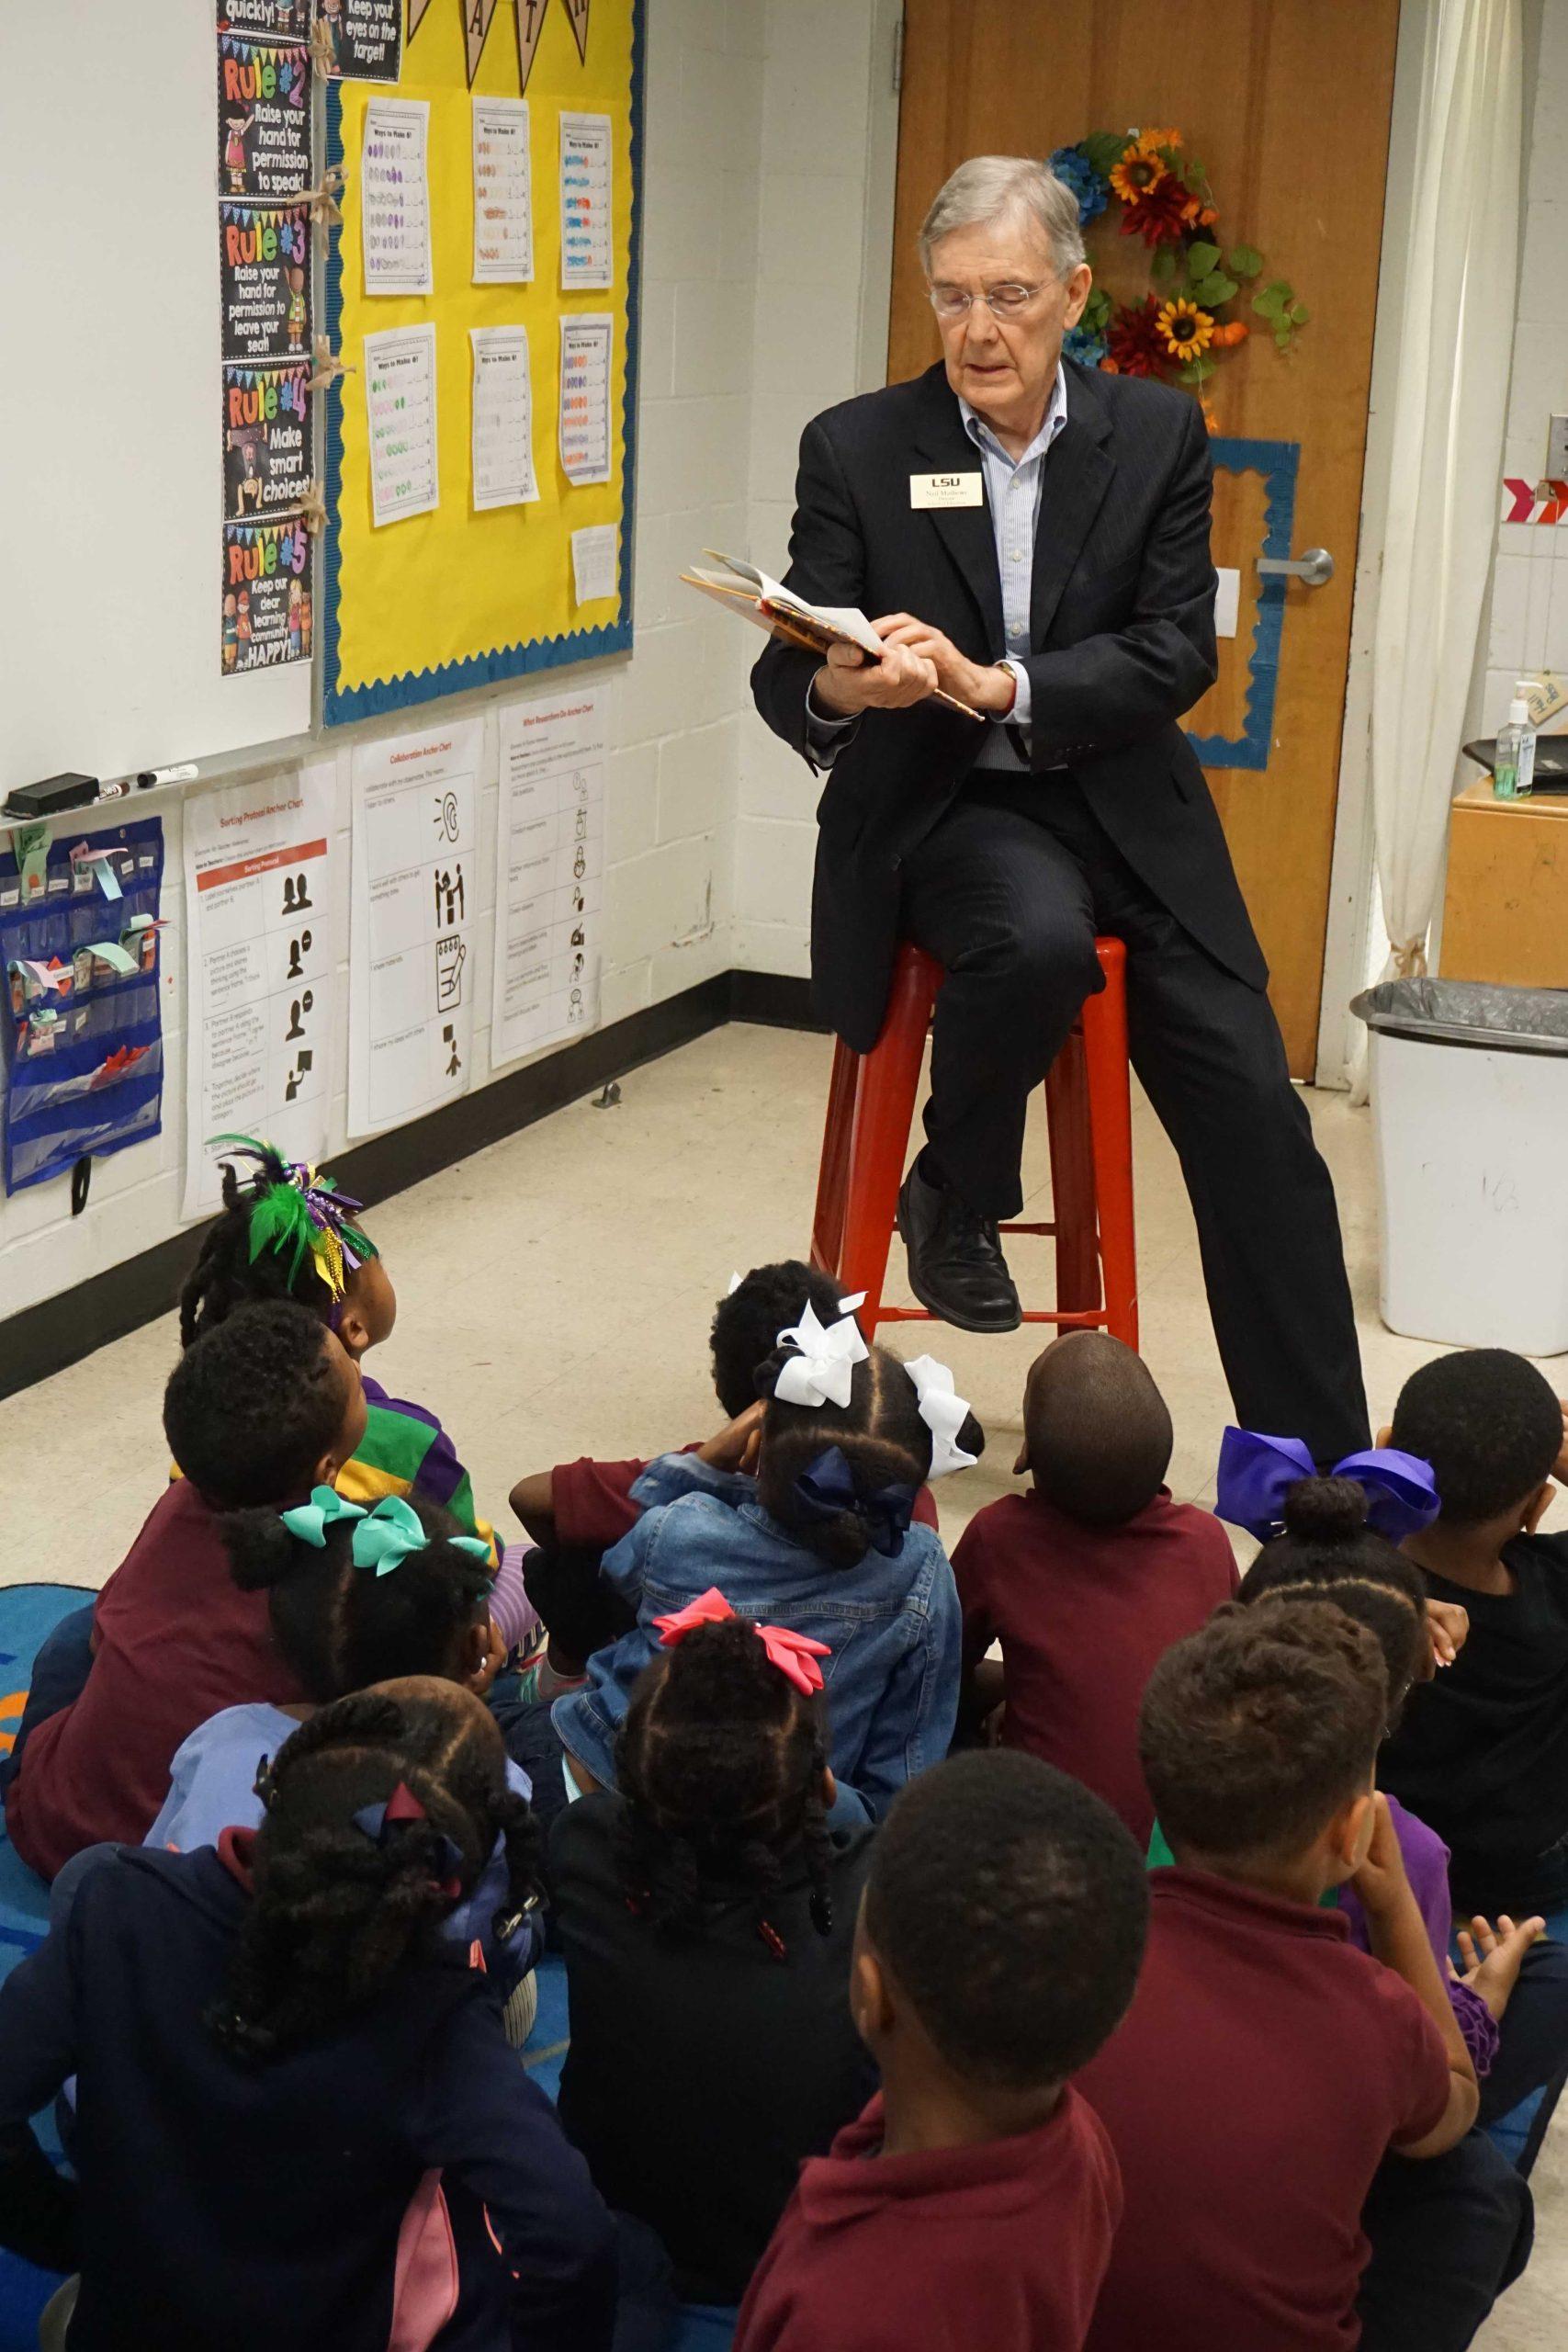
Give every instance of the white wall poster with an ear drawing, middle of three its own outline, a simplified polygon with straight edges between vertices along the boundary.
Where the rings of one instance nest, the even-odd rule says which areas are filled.
[[[353,755],[348,1131],[468,1094],[484,720]]]

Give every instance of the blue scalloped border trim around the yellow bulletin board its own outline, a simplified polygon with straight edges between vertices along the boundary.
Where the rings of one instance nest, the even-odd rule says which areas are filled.
[[[322,583],[322,724],[348,727],[353,720],[374,720],[386,710],[407,710],[414,703],[433,703],[442,694],[465,694],[470,687],[498,684],[505,677],[527,677],[534,670],[559,670],[578,661],[597,661],[602,654],[630,654],[632,649],[632,541],[637,534],[637,310],[642,278],[642,103],[644,103],[644,9],[646,0],[632,0],[632,235],[625,273],[625,402],[621,416],[623,466],[621,466],[621,621],[599,628],[567,630],[559,637],[529,637],[520,644],[503,644],[489,654],[470,654],[468,661],[444,661],[435,670],[404,670],[402,677],[378,677],[369,687],[334,684],[339,675],[339,586],[343,548],[339,536],[339,506],[343,499],[343,376],[327,393],[327,579]],[[327,162],[343,162],[343,85],[327,85]],[[343,235],[331,240],[327,254],[327,334],[331,348],[343,339]]]

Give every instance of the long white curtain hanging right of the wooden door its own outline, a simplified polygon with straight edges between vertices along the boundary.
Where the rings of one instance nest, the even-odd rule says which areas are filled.
[[[1427,969],[1497,527],[1519,275],[1521,0],[1427,0],[1425,14],[1371,680],[1385,978]]]

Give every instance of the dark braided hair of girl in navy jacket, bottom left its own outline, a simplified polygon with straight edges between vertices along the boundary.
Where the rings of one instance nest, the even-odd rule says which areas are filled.
[[[386,1804],[397,1783],[425,1818],[376,1839],[355,1813]],[[315,2042],[364,2009],[473,1893],[496,1837],[508,1912],[534,1891],[534,1816],[505,1785],[494,1717],[456,1686],[339,1698],[301,1724],[259,1788],[254,1900],[207,2013],[244,2065]]]

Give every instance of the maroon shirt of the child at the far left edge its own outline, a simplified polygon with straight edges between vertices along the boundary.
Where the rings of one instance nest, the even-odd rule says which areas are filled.
[[[16,1853],[52,1879],[99,1839],[139,1846],[181,1740],[219,1708],[303,1698],[266,1592],[240,1592],[216,1515],[188,1479],[153,1505],[99,1592],[82,1696],[28,1733],[5,1792]]]

